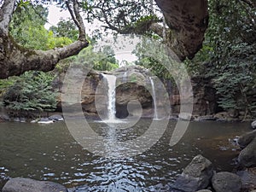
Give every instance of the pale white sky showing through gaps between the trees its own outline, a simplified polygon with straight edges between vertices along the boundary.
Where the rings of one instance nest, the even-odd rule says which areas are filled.
[[[53,4],[49,5],[48,9],[49,9],[48,23],[46,23],[45,26],[44,26],[46,29],[49,29],[50,26],[56,26],[57,23],[61,19],[67,20],[68,18],[71,18],[71,16],[69,15],[69,12],[67,10],[62,10],[61,11],[60,8],[56,7]],[[87,29],[90,28],[90,30],[91,30],[94,27],[96,27],[96,26],[92,26],[91,24],[89,26],[89,24],[85,24],[85,30],[89,35],[90,35],[90,31],[87,30]],[[109,37],[109,38],[111,39],[112,37]],[[112,42],[112,40],[110,40],[110,42]],[[124,45],[125,44],[127,45],[127,42],[124,42],[124,41],[120,42],[120,44],[122,44],[122,47],[123,47],[122,49],[114,49],[115,57],[116,57],[117,60],[119,60],[119,63],[121,61],[128,61],[128,62],[136,61],[137,56],[131,54],[131,51],[135,47],[134,46],[129,46],[130,44],[128,44],[128,48],[125,47]]]

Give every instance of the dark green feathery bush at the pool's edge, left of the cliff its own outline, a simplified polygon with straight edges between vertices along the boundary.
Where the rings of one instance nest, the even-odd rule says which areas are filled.
[[[43,72],[26,72],[9,86],[3,96],[6,108],[16,111],[52,111],[56,108],[54,76]]]

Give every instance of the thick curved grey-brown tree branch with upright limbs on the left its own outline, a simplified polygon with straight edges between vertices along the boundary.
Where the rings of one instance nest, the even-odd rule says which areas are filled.
[[[0,10],[0,32],[2,32],[0,33],[0,79],[20,75],[29,70],[48,72],[53,70],[61,59],[77,55],[81,49],[88,46],[89,43],[85,38],[84,23],[79,15],[78,2],[77,0],[72,2],[73,9],[69,10],[73,20],[79,27],[79,39],[63,48],[43,51],[23,48],[9,36],[8,28],[15,0],[4,0]]]

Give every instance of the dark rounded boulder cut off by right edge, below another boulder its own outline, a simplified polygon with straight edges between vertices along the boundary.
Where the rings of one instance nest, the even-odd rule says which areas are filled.
[[[238,156],[238,161],[242,166],[252,167],[256,166],[256,137],[247,145],[246,148],[241,150]]]

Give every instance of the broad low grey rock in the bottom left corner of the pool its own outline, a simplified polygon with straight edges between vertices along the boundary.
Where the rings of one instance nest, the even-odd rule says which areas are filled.
[[[3,186],[3,192],[67,192],[67,189],[53,182],[43,182],[31,178],[11,178]]]

